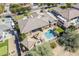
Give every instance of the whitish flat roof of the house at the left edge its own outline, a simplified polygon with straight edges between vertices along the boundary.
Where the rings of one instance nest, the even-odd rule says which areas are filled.
[[[11,18],[1,18],[0,30],[4,31],[4,30],[12,29],[12,24],[13,24],[13,21],[11,20]]]

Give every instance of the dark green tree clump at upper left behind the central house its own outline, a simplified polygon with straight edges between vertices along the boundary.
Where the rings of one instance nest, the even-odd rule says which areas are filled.
[[[15,13],[15,14],[25,14],[26,11],[30,11],[31,8],[30,7],[23,7],[21,4],[12,4],[10,6],[10,10],[12,13]]]

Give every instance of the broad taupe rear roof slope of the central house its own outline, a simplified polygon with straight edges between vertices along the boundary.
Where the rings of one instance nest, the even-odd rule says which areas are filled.
[[[20,31],[22,33],[27,33],[34,29],[48,25],[49,24],[48,21],[51,20],[53,21],[54,19],[50,17],[48,14],[44,14],[44,16],[36,16],[26,20],[18,20],[18,24],[20,27]]]

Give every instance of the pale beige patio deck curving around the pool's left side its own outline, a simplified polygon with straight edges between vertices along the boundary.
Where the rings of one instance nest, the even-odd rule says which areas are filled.
[[[46,37],[45,37],[45,32],[47,32],[49,29],[52,29],[53,30],[53,27],[51,28],[51,27],[49,27],[49,28],[47,28],[47,29],[43,29],[43,31],[36,31],[36,32],[34,32],[34,33],[32,33],[31,35],[28,35],[27,37],[28,38],[31,38],[31,39],[33,39],[34,41],[37,41],[36,39],[34,39],[34,38],[32,38],[33,36],[36,36],[38,39],[42,39],[44,42],[45,41],[49,41],[50,39],[47,39]],[[53,39],[55,39],[56,37],[54,37]],[[51,39],[52,40],[52,39]]]

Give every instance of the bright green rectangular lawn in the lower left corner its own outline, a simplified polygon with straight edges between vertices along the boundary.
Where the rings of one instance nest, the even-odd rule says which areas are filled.
[[[4,42],[0,42],[0,56],[2,55],[8,55],[8,40],[5,40]]]

